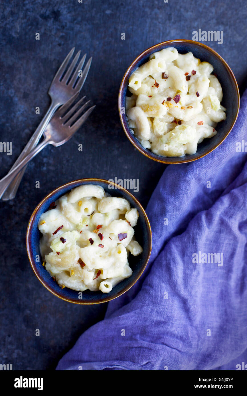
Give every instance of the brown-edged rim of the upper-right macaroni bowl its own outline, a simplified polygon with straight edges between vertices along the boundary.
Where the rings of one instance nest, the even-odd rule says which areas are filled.
[[[191,158],[191,159],[186,159],[186,156],[184,157],[172,157],[172,158],[181,158],[179,161],[177,162],[171,162],[169,160],[170,157],[163,157],[163,156],[159,156],[159,158],[154,158],[153,156],[151,156],[151,154],[149,154],[149,152],[144,148],[144,147],[139,147],[136,142],[134,141],[134,139],[132,139],[132,136],[130,136],[127,131],[126,128],[124,126],[124,122],[123,122],[123,114],[121,113],[121,97],[123,96],[123,83],[124,80],[127,76],[127,74],[129,73],[131,67],[140,59],[140,57],[142,57],[143,55],[146,55],[146,53],[148,51],[150,51],[151,49],[155,49],[155,48],[159,48],[161,45],[163,44],[172,44],[172,43],[189,43],[189,44],[194,44],[195,46],[199,46],[199,47],[203,47],[208,49],[211,53],[213,53],[213,55],[215,55],[216,57],[218,57],[218,59],[223,63],[223,65],[226,67],[226,69],[228,70],[228,72],[230,73],[230,76],[232,77],[232,80],[234,82],[235,88],[236,88],[236,93],[237,93],[237,112],[236,115],[234,117],[234,120],[228,130],[228,132],[223,136],[223,138],[221,139],[221,141],[219,143],[216,144],[215,147],[213,148],[209,148],[207,150],[207,152],[201,154],[199,157],[197,158]],[[238,85],[237,85],[237,81],[236,78],[234,76],[234,73],[232,72],[232,69],[230,68],[230,66],[228,65],[228,63],[226,63],[226,61],[218,54],[218,52],[214,51],[213,48],[206,46],[203,43],[197,42],[197,41],[193,41],[193,40],[187,40],[187,39],[176,39],[176,40],[167,40],[167,41],[163,41],[161,43],[155,44],[154,46],[151,46],[147,49],[145,49],[142,53],[140,53],[140,55],[138,55],[136,57],[136,59],[134,59],[134,61],[130,64],[130,66],[128,67],[128,69],[126,70],[126,72],[124,73],[124,76],[122,78],[121,84],[120,84],[120,88],[119,88],[119,95],[118,95],[118,110],[119,110],[119,117],[120,117],[120,121],[124,130],[125,135],[128,137],[129,141],[132,143],[132,145],[134,145],[135,148],[137,148],[138,151],[140,151],[142,154],[144,154],[147,158],[150,158],[153,161],[156,162],[160,162],[161,164],[172,164],[172,165],[176,165],[176,164],[185,164],[186,162],[192,162],[192,161],[196,161],[199,160],[200,158],[203,158],[204,156],[206,156],[207,154],[209,154],[210,152],[212,152],[213,150],[215,150],[215,148],[217,148],[218,146],[221,145],[221,143],[226,139],[226,137],[229,135],[229,133],[231,132],[232,128],[234,127],[234,124],[237,120],[237,116],[239,113],[239,107],[240,107],[240,95],[239,95],[239,89],[238,89]],[[163,159],[164,158],[164,159]],[[182,159],[183,158],[183,159]]]

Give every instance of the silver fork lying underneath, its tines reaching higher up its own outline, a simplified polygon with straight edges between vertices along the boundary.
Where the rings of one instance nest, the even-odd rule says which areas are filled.
[[[52,118],[54,112],[57,110],[57,108],[64,103],[66,103],[77,91],[80,91],[82,88],[86,77],[88,75],[88,71],[90,69],[90,65],[92,62],[92,57],[88,60],[82,76],[79,77],[78,70],[81,70],[85,59],[86,59],[86,54],[83,55],[82,59],[80,60],[77,68],[75,69],[75,66],[78,62],[78,59],[80,57],[80,51],[77,52],[75,55],[75,58],[71,62],[71,65],[69,66],[68,70],[65,73],[66,67],[69,65],[69,61],[71,60],[71,57],[74,53],[75,48],[72,48],[71,51],[68,53],[67,57],[64,59],[63,63],[57,70],[56,76],[52,80],[52,84],[49,88],[48,94],[50,95],[51,98],[51,104],[49,109],[47,110],[44,118],[40,122],[38,128],[36,131],[33,133],[33,136],[13,164],[12,169],[14,169],[20,162],[25,158],[25,156],[31,152],[31,150],[38,144],[44,129],[46,128],[48,122]],[[75,72],[73,73],[73,70],[75,69]],[[65,73],[65,74],[64,74]],[[73,74],[72,74],[73,73]],[[63,76],[64,74],[64,76]],[[78,79],[77,79],[78,77]],[[61,81],[60,81],[61,80]],[[21,179],[23,177],[23,174],[25,173],[26,166],[23,168],[23,170],[15,177],[15,179],[12,181],[8,189],[6,190],[4,196],[2,199],[4,201],[8,201],[10,199],[15,198],[15,194],[18,190],[19,184],[21,182]]]

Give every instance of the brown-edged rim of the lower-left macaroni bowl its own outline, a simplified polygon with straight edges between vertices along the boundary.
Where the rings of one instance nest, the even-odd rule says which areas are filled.
[[[32,267],[32,269],[33,269],[33,272],[34,272],[34,274],[36,275],[36,277],[38,278],[38,280],[42,283],[42,285],[43,285],[47,290],[49,290],[49,291],[50,291],[52,294],[54,294],[56,297],[60,298],[61,300],[67,301],[67,302],[69,302],[69,303],[78,304],[78,305],[95,305],[95,304],[107,303],[108,301],[114,300],[115,298],[117,298],[117,297],[123,295],[124,293],[126,293],[126,291],[128,291],[132,286],[134,286],[134,284],[138,281],[138,279],[140,278],[140,276],[141,276],[142,273],[144,272],[144,270],[145,270],[145,268],[146,268],[146,266],[147,266],[147,263],[149,262],[149,258],[150,258],[151,250],[152,250],[152,230],[151,230],[151,226],[150,226],[150,223],[149,223],[149,219],[148,219],[148,217],[147,217],[146,211],[144,210],[143,206],[140,204],[140,202],[138,201],[138,199],[137,199],[136,197],[134,197],[128,190],[126,190],[125,188],[123,188],[123,187],[117,185],[117,184],[114,183],[114,182],[111,182],[111,184],[113,184],[114,187],[117,187],[117,186],[118,186],[118,187],[117,187],[118,190],[124,190],[129,196],[131,196],[131,198],[132,198],[136,203],[138,203],[138,205],[140,205],[140,208],[142,209],[142,212],[143,212],[143,214],[144,214],[144,218],[145,218],[145,220],[146,220],[146,224],[147,224],[147,228],[148,228],[148,232],[149,232],[149,236],[150,236],[150,243],[149,243],[149,249],[148,249],[148,255],[147,255],[146,262],[145,262],[144,265],[142,266],[142,270],[141,270],[141,272],[140,272],[138,278],[136,278],[136,279],[132,282],[132,284],[131,284],[129,287],[127,287],[126,290],[119,292],[119,294],[118,294],[117,296],[115,296],[115,297],[108,297],[108,298],[107,298],[107,295],[106,295],[106,296],[105,296],[105,299],[103,299],[102,301],[97,301],[97,302],[94,302],[94,301],[86,301],[86,302],[85,302],[85,301],[78,301],[78,302],[77,302],[77,301],[72,301],[72,300],[70,300],[70,299],[68,299],[68,298],[66,298],[66,297],[62,297],[61,295],[58,295],[54,290],[52,290],[48,285],[46,285],[46,284],[43,282],[43,279],[38,275],[38,273],[37,273],[37,271],[36,271],[36,267],[33,265],[32,257],[31,257],[31,249],[30,249],[30,244],[29,244],[29,236],[30,236],[30,234],[31,234],[31,229],[32,229],[32,228],[31,228],[31,225],[32,225],[34,216],[35,216],[36,212],[38,211],[38,209],[40,208],[40,206],[42,206],[42,204],[43,204],[48,198],[50,198],[55,192],[58,192],[58,191],[60,190],[60,188],[67,187],[67,186],[69,187],[71,184],[76,183],[76,182],[87,182],[87,181],[95,181],[96,183],[97,183],[97,182],[102,182],[102,183],[107,183],[107,184],[109,184],[109,181],[108,181],[108,180],[105,180],[105,179],[85,178],[85,179],[76,179],[76,180],[70,181],[70,182],[68,182],[68,183],[65,183],[65,184],[63,184],[63,185],[61,185],[61,186],[55,188],[54,190],[52,190],[52,192],[50,192],[49,194],[47,194],[47,195],[37,204],[36,208],[33,210],[33,213],[31,214],[31,217],[30,217],[29,222],[28,222],[27,233],[26,233],[26,248],[27,248],[27,255],[28,255],[29,263],[31,264],[31,267]]]

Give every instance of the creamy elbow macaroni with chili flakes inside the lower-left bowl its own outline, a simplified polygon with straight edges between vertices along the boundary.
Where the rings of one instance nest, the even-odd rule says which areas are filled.
[[[40,216],[46,270],[61,287],[109,293],[131,276],[128,255],[142,253],[134,239],[138,217],[126,199],[106,196],[100,186],[74,188]]]

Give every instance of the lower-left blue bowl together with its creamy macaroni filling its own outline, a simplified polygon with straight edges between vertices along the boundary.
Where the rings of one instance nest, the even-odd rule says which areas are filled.
[[[48,194],[27,228],[27,253],[40,282],[57,297],[97,304],[140,278],[151,254],[147,215],[124,188],[81,179]]]

